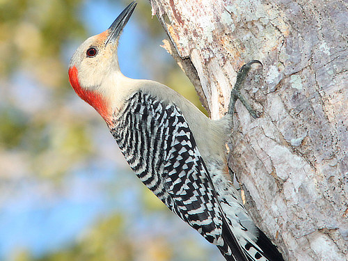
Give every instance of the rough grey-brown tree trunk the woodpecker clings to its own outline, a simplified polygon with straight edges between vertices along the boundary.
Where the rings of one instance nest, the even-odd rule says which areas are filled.
[[[346,260],[347,2],[151,0],[164,47],[213,119],[237,70],[258,59],[237,102],[229,163],[246,207],[287,260]],[[257,65],[253,65],[258,68]]]

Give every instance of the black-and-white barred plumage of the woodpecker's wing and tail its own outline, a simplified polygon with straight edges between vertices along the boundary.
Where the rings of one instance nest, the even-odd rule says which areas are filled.
[[[110,131],[143,184],[208,242],[216,244],[227,260],[233,260],[232,249],[238,253],[239,248],[245,255],[239,258],[267,260],[255,244],[258,228],[238,192],[222,175],[219,168],[223,166],[211,164],[209,169],[216,173],[209,175],[177,106],[139,90],[118,111]],[[232,230],[238,231],[237,244]]]

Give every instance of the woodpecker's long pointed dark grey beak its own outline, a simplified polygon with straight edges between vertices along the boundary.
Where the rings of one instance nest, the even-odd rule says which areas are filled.
[[[118,39],[118,36],[120,35],[121,31],[127,24],[135,7],[136,7],[136,1],[132,1],[132,3],[129,3],[129,6],[127,6],[125,10],[123,10],[122,13],[118,15],[115,21],[113,21],[113,23],[107,30],[109,31],[109,36],[108,38],[106,38],[105,45],[107,45],[110,41],[114,42]]]

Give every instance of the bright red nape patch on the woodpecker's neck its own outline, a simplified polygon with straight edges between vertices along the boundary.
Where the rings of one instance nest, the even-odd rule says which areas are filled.
[[[77,76],[77,68],[75,66],[69,68],[69,81],[72,88],[74,88],[75,93],[77,93],[82,100],[93,106],[93,108],[102,116],[102,118],[104,118],[104,120],[106,120],[106,122],[111,122],[111,113],[109,112],[106,101],[103,99],[100,93],[81,88],[79,78]]]

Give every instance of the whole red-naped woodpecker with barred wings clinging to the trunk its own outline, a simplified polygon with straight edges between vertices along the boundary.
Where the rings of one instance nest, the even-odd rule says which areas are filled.
[[[135,7],[130,3],[109,29],[78,47],[69,66],[72,88],[104,118],[143,184],[226,260],[283,260],[246,212],[226,159],[235,101],[254,113],[239,88],[251,65],[260,62],[242,67],[229,113],[211,120],[171,88],[120,72],[118,40]]]

